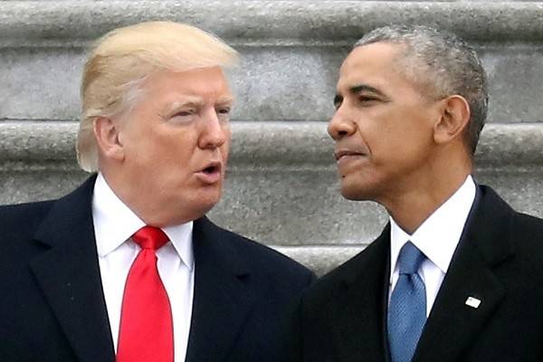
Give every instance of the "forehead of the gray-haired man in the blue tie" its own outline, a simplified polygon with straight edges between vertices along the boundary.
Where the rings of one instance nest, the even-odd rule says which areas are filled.
[[[382,88],[391,82],[405,81],[396,65],[397,56],[402,50],[403,45],[394,43],[357,46],[341,64],[338,91],[348,90],[358,84]]]

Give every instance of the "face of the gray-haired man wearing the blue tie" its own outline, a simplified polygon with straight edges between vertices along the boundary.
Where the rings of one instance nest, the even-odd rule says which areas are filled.
[[[433,147],[437,102],[405,79],[395,56],[401,45],[372,43],[355,48],[339,71],[336,113],[329,135],[341,194],[385,202],[424,182]]]

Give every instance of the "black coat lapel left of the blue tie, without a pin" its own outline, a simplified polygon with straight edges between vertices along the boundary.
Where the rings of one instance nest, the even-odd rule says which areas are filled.
[[[342,291],[329,303],[338,362],[388,360],[386,300],[390,227],[350,263]]]

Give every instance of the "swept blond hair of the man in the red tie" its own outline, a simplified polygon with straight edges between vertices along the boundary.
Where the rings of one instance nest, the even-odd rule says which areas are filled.
[[[98,170],[93,122],[128,112],[149,74],[230,67],[238,54],[210,33],[186,24],[147,22],[115,29],[102,36],[85,63],[81,81],[82,115],[77,138],[81,168]]]

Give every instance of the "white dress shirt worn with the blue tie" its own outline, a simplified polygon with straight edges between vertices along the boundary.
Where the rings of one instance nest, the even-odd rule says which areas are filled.
[[[452,254],[460,242],[464,224],[475,200],[475,183],[467,176],[462,186],[433,212],[418,229],[409,235],[390,218],[390,288],[388,298],[398,281],[399,271],[396,262],[402,246],[414,243],[426,259],[418,274],[426,288],[426,317],[430,315],[433,301],[439,291],[445,273],[449,269]]]

